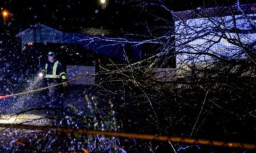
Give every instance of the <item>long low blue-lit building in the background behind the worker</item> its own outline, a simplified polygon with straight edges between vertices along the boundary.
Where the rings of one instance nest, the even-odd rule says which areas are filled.
[[[94,29],[94,31],[96,31]],[[97,31],[97,34],[100,33]],[[106,31],[101,30],[104,33]],[[95,33],[95,32],[94,32]],[[24,52],[26,50],[26,45],[31,46],[36,43],[51,43],[51,44],[76,44],[84,46],[89,50],[93,50],[96,54],[102,54],[106,56],[111,56],[114,58],[125,59],[124,49],[128,47],[125,42],[119,42],[118,37],[104,37],[103,35],[90,35],[90,34],[80,34],[80,33],[65,33],[47,27],[44,24],[35,24],[24,31],[21,31],[16,35],[16,37],[21,37],[22,43],[21,48]],[[131,50],[130,56],[135,61],[141,60],[141,48],[133,48]]]

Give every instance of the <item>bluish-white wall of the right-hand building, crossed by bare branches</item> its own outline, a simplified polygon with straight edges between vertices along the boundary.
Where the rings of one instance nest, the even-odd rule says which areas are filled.
[[[251,29],[251,24],[256,27],[256,14],[248,14],[248,18],[237,15],[236,27],[241,30]],[[254,18],[254,19],[253,19]],[[225,24],[223,24],[225,23]],[[227,39],[240,39],[243,44],[251,44],[256,41],[255,31],[252,33],[229,33],[225,31],[227,38],[221,36],[220,29],[233,29],[234,23],[231,16],[194,18],[175,22],[175,49],[176,52],[205,52],[227,58],[247,58],[246,52],[239,46],[230,44]],[[218,41],[215,43],[214,41]],[[182,61],[193,64],[202,61],[214,61],[216,59],[208,55],[177,54],[177,66]]]

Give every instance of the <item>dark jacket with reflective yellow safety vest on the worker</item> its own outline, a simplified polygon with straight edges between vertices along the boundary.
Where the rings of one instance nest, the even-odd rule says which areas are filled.
[[[66,80],[66,73],[59,61],[46,63],[42,71],[45,72],[44,78],[48,81]]]

